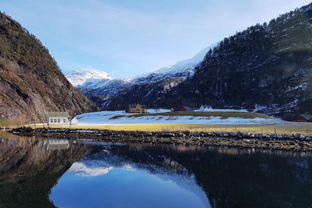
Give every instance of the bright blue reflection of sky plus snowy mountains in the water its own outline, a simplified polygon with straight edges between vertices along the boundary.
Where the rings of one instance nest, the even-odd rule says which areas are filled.
[[[186,169],[177,173],[109,152],[74,163],[49,198],[57,207],[209,207],[206,194]]]

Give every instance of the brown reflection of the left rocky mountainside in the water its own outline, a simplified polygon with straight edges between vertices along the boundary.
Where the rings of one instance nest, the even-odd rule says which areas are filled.
[[[47,139],[3,131],[0,138],[0,207],[55,207],[49,191],[71,164],[89,151],[85,145],[73,143],[68,149],[46,150]]]

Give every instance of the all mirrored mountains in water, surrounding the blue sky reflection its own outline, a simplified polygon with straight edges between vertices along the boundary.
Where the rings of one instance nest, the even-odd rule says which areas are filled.
[[[1,133],[0,207],[55,207],[49,192],[74,162],[67,173],[140,171],[175,183],[212,207],[312,204],[312,158],[307,152],[93,140],[66,140],[68,149],[52,151],[44,148],[47,139]]]

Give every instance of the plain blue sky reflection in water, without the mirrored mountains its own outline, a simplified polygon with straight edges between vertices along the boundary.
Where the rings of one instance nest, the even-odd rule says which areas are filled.
[[[87,178],[64,174],[50,200],[57,207],[209,207],[207,199],[172,181],[122,168]]]

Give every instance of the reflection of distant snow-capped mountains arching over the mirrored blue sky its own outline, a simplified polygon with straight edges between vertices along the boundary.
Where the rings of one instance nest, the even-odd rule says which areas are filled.
[[[166,146],[166,148],[168,147]],[[142,143],[126,143],[124,145],[101,145],[99,143],[93,147],[90,154],[74,163],[66,174],[92,177],[106,174],[113,168],[139,171],[147,175],[154,175],[163,181],[175,183],[194,193],[203,204],[207,204],[206,194],[200,186],[196,185],[194,174],[189,173],[183,165],[165,155],[154,157],[149,154],[150,149]]]

